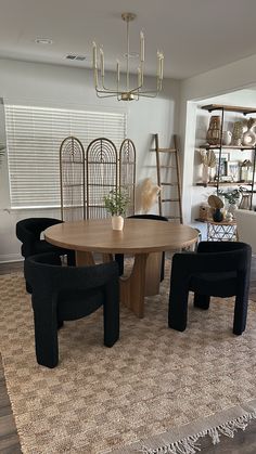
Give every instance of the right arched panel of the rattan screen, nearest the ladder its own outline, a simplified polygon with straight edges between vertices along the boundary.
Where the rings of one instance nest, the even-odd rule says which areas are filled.
[[[119,189],[126,189],[130,197],[127,216],[135,215],[136,146],[130,139],[125,139],[119,150]]]

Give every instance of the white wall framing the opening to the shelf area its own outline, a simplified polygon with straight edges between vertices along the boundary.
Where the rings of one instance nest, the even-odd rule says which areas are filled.
[[[196,108],[200,101],[256,106],[256,54],[222,66],[181,82],[180,135],[183,138],[183,211],[184,222],[193,222],[191,208],[194,204],[194,146]],[[247,88],[246,91],[241,91]],[[218,98],[215,98],[218,96]],[[195,190],[200,191],[200,190]]]

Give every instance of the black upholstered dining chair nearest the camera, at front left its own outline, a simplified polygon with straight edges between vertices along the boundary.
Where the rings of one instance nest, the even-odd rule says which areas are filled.
[[[119,284],[115,262],[93,267],[63,267],[56,254],[30,256],[25,277],[31,288],[37,362],[55,367],[57,328],[103,306],[104,345],[119,337]]]

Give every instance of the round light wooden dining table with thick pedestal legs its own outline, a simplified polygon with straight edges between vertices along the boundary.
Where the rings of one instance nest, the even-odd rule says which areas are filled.
[[[125,219],[123,231],[113,230],[110,218],[63,222],[44,231],[47,242],[75,250],[77,265],[94,264],[92,252],[101,252],[103,261],[114,254],[135,256],[130,275],[120,276],[120,300],[139,317],[144,297],[159,293],[162,252],[190,247],[197,236],[191,226],[148,219]]]

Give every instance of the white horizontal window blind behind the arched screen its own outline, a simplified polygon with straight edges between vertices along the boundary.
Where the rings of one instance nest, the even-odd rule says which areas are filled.
[[[12,208],[60,207],[60,146],[68,135],[85,151],[101,137],[117,150],[126,137],[126,114],[5,106]]]

